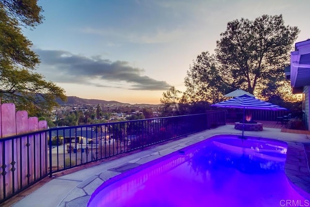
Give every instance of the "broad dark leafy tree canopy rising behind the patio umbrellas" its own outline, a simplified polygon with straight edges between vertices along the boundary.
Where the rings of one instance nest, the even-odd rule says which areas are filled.
[[[274,96],[280,87],[289,87],[283,68],[298,33],[297,27],[284,25],[282,15],[228,22],[215,54],[202,52],[187,71],[186,94],[192,101],[195,97],[211,103],[237,88]]]

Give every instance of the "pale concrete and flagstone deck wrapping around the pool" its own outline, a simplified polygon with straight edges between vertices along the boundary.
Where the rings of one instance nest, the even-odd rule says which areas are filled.
[[[182,139],[137,150],[136,153],[128,153],[128,156],[107,160],[75,173],[55,177],[13,206],[86,207],[93,191],[109,178],[215,135],[242,133],[233,127],[226,125],[205,130]],[[293,187],[298,186],[310,193],[310,135],[285,133],[281,132],[280,128],[264,127],[263,131],[245,131],[245,136],[272,138],[288,143],[285,173]],[[296,190],[299,191],[299,188]],[[304,194],[306,199],[310,199],[309,194],[299,192]]]

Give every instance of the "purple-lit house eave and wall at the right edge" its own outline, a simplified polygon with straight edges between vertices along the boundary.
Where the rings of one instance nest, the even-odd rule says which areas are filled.
[[[284,72],[291,79],[293,94],[303,94],[303,122],[310,130],[310,39],[295,44],[295,51],[291,52],[290,71]]]

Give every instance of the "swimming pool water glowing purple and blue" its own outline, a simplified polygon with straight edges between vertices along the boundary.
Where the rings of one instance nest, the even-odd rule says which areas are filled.
[[[270,139],[215,136],[109,179],[88,207],[310,206],[284,173],[286,150]]]

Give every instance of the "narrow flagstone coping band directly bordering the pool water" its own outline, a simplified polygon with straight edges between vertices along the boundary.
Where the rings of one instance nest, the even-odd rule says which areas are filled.
[[[92,193],[105,181],[109,180],[109,178],[114,177],[116,175],[120,175],[122,173],[121,171],[126,172],[130,169],[140,166],[141,164],[161,158],[165,155],[178,151],[192,144],[201,142],[216,135],[223,135],[223,133],[209,133],[208,135],[201,136],[202,133],[203,132],[199,132],[196,134],[189,135],[187,138],[178,140],[179,141],[178,143],[174,145],[172,144],[172,146],[170,146],[169,148],[159,147],[158,151],[156,150],[156,146],[154,146],[151,148],[153,153],[142,156],[141,158],[128,161],[127,164],[124,163],[123,165],[119,165],[118,167],[114,168],[114,171],[113,168],[110,168],[101,172],[98,175],[93,175],[89,177],[88,179],[80,182],[74,189],[72,189],[63,198],[62,202],[58,206],[59,207],[87,206]],[[229,133],[229,134],[234,135],[238,133]],[[309,169],[310,162],[307,159],[307,155],[310,155],[310,151],[305,149],[304,144],[290,141],[285,138],[282,139],[275,137],[257,136],[257,134],[254,136],[258,138],[275,139],[287,143],[288,145],[287,158],[284,166],[285,174],[287,175],[288,180],[292,184],[293,188],[296,191],[298,191],[298,193],[300,193],[302,196],[304,196],[306,199],[310,199],[310,197],[308,197],[310,194],[310,169]],[[301,190],[299,188],[296,188],[296,186],[299,187]]]

